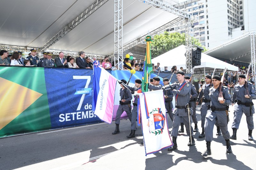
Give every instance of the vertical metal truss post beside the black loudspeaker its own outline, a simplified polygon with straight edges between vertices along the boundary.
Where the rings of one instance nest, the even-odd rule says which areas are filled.
[[[192,42],[190,37],[191,21],[189,18],[185,19],[185,40],[186,40],[186,72],[192,71]]]

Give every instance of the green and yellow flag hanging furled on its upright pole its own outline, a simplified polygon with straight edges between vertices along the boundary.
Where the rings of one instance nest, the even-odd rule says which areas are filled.
[[[142,92],[148,92],[148,83],[150,74],[153,73],[152,63],[151,63],[151,51],[150,51],[150,43],[152,42],[151,36],[147,36],[145,41],[147,42],[147,50],[145,55],[145,62],[143,67],[143,75],[142,75]]]

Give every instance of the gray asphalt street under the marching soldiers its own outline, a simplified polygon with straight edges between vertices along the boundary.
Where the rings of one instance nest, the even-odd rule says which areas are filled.
[[[256,100],[253,100],[256,103]],[[197,107],[199,130],[201,117]],[[229,132],[232,135],[231,122],[233,107],[230,106]],[[168,117],[169,130],[172,121]],[[254,115],[254,124],[255,124]],[[248,129],[243,115],[237,140],[231,140],[233,153],[226,153],[225,140],[215,136],[211,143],[212,155],[203,158],[206,150],[204,139],[195,133],[195,146],[188,147],[188,136],[180,134],[177,138],[178,150],[167,149],[145,156],[141,128],[136,138],[127,139],[131,123],[121,120],[120,134],[112,135],[112,124],[100,123],[59,130],[32,133],[0,139],[0,169],[253,169],[256,170],[256,141],[248,140]],[[194,124],[193,124],[194,126]],[[256,131],[252,136],[256,139]]]

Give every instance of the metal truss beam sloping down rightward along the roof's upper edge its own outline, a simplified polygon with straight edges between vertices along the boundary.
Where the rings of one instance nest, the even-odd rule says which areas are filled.
[[[141,1],[141,2],[143,2],[145,4],[152,5],[152,6],[156,7],[156,8],[161,9],[161,10],[173,13],[173,14],[175,14],[175,15],[183,18],[183,19],[184,18],[191,18],[192,17],[187,12],[181,11],[181,10],[179,10],[177,8],[174,8],[171,4],[167,4],[167,3],[161,2],[159,0],[138,0],[138,1]]]

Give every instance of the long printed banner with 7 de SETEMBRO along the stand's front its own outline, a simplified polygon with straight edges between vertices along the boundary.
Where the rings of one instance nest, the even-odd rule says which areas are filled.
[[[119,80],[131,75],[126,70],[108,72]],[[136,71],[129,85],[142,73]],[[159,77],[163,84],[162,78],[171,73],[160,72]],[[0,137],[101,122],[92,112],[92,78],[92,69],[0,66]],[[117,83],[113,119],[120,88]]]

